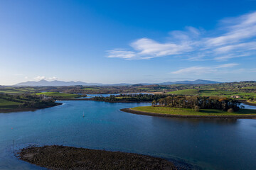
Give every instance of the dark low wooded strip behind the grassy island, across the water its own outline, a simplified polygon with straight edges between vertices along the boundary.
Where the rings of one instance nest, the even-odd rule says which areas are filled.
[[[118,96],[111,95],[109,97],[96,96],[91,98],[93,101],[106,102],[151,102],[159,98],[165,98],[164,94],[120,94]]]

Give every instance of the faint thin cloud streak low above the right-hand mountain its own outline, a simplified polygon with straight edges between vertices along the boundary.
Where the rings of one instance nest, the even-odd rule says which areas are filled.
[[[235,67],[239,64],[237,63],[228,63],[228,64],[220,64],[215,67],[200,67],[200,66],[194,66],[194,67],[188,67],[183,69],[178,69],[175,72],[171,72],[171,74],[209,74],[209,73],[218,73],[222,72],[222,69]]]

